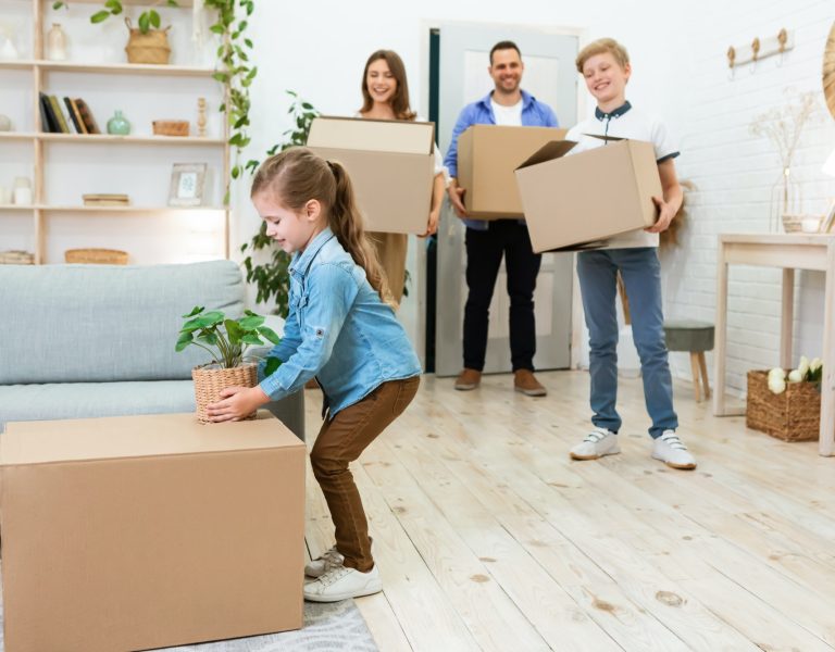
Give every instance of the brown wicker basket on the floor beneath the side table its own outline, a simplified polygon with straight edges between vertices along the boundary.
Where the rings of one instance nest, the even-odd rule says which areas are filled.
[[[814,383],[788,383],[786,391],[769,389],[768,372],[748,372],[745,425],[784,441],[818,439],[821,394]]]

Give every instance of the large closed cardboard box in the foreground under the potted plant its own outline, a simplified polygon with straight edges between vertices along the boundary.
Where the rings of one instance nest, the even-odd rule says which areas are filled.
[[[304,444],[267,413],[10,423],[7,652],[146,650],[302,625]]]

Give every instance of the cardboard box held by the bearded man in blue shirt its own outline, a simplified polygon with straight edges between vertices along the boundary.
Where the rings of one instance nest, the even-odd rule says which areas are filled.
[[[545,143],[562,140],[565,129],[473,125],[458,138],[458,185],[464,188],[468,217],[522,217],[513,172]]]

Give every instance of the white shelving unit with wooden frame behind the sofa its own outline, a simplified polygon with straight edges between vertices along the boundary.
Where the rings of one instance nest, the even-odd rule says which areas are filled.
[[[153,88],[154,84],[163,85],[162,90],[159,92],[164,93],[167,90],[172,95],[177,90],[177,86],[171,84],[172,79],[184,79],[178,82],[177,85],[185,85],[189,79],[196,80],[196,84],[200,84],[200,88],[205,88],[205,95],[214,93],[217,102],[225,101],[225,89],[213,79],[214,68],[194,65],[151,65],[151,64],[132,64],[132,63],[110,63],[110,62],[95,62],[95,61],[50,61],[46,59],[46,33],[49,28],[50,17],[54,20],[54,14],[49,14],[48,11],[52,5],[52,0],[28,0],[26,2],[30,5],[32,11],[32,52],[28,54],[28,59],[18,59],[14,61],[0,61],[0,86],[5,86],[3,83],[3,75],[13,74],[18,75],[21,72],[29,72],[30,77],[30,108],[28,110],[30,118],[25,122],[30,125],[24,131],[2,131],[0,133],[0,153],[3,149],[11,151],[13,147],[20,148],[26,147],[28,143],[32,147],[32,170],[33,170],[33,196],[34,203],[32,205],[0,205],[0,249],[7,249],[2,243],[7,238],[4,234],[7,231],[7,225],[3,224],[2,218],[8,217],[10,213],[18,215],[32,214],[32,233],[34,242],[34,253],[36,264],[42,263],[57,263],[63,262],[62,260],[54,260],[57,254],[48,255],[50,243],[50,224],[53,220],[59,218],[61,215],[72,215],[77,224],[77,221],[83,220],[84,216],[89,215],[91,220],[101,220],[103,215],[110,214],[117,218],[120,215],[148,215],[157,217],[159,220],[171,216],[172,220],[176,220],[178,215],[189,215],[196,213],[215,213],[221,216],[222,227],[220,237],[222,239],[222,254],[225,258],[229,256],[229,221],[230,212],[229,208],[222,204],[223,188],[225,188],[225,181],[229,176],[229,146],[228,146],[228,125],[225,120],[225,115],[221,115],[220,120],[214,120],[214,134],[210,134],[208,137],[172,137],[172,136],[154,136],[136,134],[129,136],[114,136],[109,134],[101,135],[80,135],[80,134],[50,134],[40,131],[41,115],[40,115],[40,102],[39,93],[45,92],[47,95],[59,95],[54,90],[54,86],[68,88],[72,87],[72,92],[75,97],[86,97],[88,91],[96,91],[99,95],[109,92],[112,87],[112,92],[117,93],[120,83],[124,86],[124,79],[130,76],[130,90],[137,89],[145,90],[147,88]],[[124,2],[127,5],[145,5],[148,7],[149,2],[142,2],[137,0],[129,0]],[[0,10],[4,5],[15,5],[20,9],[22,2],[20,0],[0,0]],[[72,0],[71,5],[90,5],[90,4],[103,4],[99,0]],[[190,17],[191,2],[179,0],[178,9],[164,8],[166,12],[183,12],[184,9],[188,9],[187,13],[182,14],[182,21],[185,16]],[[75,11],[84,11],[86,13],[92,13],[95,8],[86,7],[83,9],[76,9]],[[85,14],[86,15],[86,14]],[[120,18],[115,18],[121,21]],[[127,40],[127,33],[125,30],[125,40]],[[55,76],[71,75],[68,82],[57,82]],[[64,77],[66,78],[66,77]],[[92,90],[90,90],[92,89]],[[0,93],[0,113],[7,113],[9,105],[3,101],[3,95]],[[62,93],[63,95],[63,93]],[[150,99],[159,97],[151,92]],[[196,101],[196,97],[190,98]],[[7,101],[14,101],[14,98],[7,96]],[[179,97],[174,98],[174,101],[180,100]],[[187,111],[192,111],[194,104],[190,104]],[[213,109],[216,112],[216,105]],[[211,110],[210,110],[211,111]],[[24,114],[25,115],[25,114]],[[104,131],[107,117],[103,114],[96,112],[99,127]],[[164,116],[159,116],[164,117]],[[191,130],[196,131],[196,126],[191,125]],[[71,125],[72,128],[72,125]],[[82,150],[71,150],[71,153],[62,151],[61,148],[83,148]],[[141,150],[140,154],[135,152]],[[95,153],[90,154],[90,149],[95,149]],[[74,154],[72,152],[85,152],[83,154]],[[149,205],[151,202],[147,201],[147,198],[139,198],[136,200],[136,204],[128,206],[85,206],[82,203],[80,195],[77,192],[78,204],[75,205],[72,201],[67,202],[67,192],[62,193],[63,197],[52,199],[53,192],[50,191],[51,186],[57,180],[53,176],[61,176],[61,181],[66,186],[76,186],[73,175],[79,175],[77,177],[77,187],[85,188],[83,191],[112,191],[107,185],[101,188],[95,188],[87,190],[84,181],[89,184],[91,171],[94,176],[98,176],[96,173],[97,166],[102,173],[108,172],[108,167],[124,163],[125,159],[128,161],[133,159],[141,159],[144,171],[149,174],[155,174],[157,177],[165,178],[170,176],[171,160],[176,161],[178,155],[176,152],[202,151],[213,152],[211,155],[215,160],[220,156],[220,165],[217,170],[213,170],[213,181],[215,185],[214,196],[209,198],[211,205],[201,205],[195,208],[171,208],[166,205],[167,187],[158,188],[158,196],[160,198],[159,204]],[[159,154],[159,163],[157,163]],[[207,154],[209,155],[209,154]],[[15,154],[11,154],[14,163]],[[74,165],[74,156],[84,159],[83,162],[76,166]],[[50,163],[58,161],[57,167],[60,166],[61,172],[52,172],[50,170]],[[162,161],[165,161],[164,163]],[[8,165],[8,161],[4,162]],[[84,164],[82,164],[84,163]],[[28,165],[28,164],[25,164]],[[153,166],[157,165],[157,168]],[[74,168],[77,167],[77,172]],[[164,170],[162,170],[164,167]],[[68,172],[67,172],[68,170]],[[112,172],[112,171],[111,171]],[[86,176],[85,176],[86,175]],[[102,178],[107,178],[107,174],[102,174]],[[140,184],[140,181],[137,181]],[[161,185],[161,184],[158,184]],[[146,190],[141,185],[137,185],[138,190]],[[73,195],[76,196],[76,195]],[[130,193],[132,202],[135,201],[133,193]],[[70,198],[72,200],[72,197]],[[20,231],[20,225],[16,227]],[[12,229],[13,230],[13,229]],[[8,234],[5,234],[8,235]],[[112,238],[113,239],[113,238]],[[121,249],[130,249],[130,237],[126,237],[124,243],[120,246],[119,241],[113,242],[112,246]]]

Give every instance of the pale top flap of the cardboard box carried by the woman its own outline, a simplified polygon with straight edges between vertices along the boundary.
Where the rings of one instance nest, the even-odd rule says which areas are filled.
[[[310,125],[308,146],[431,154],[435,147],[435,123],[320,115]]]

